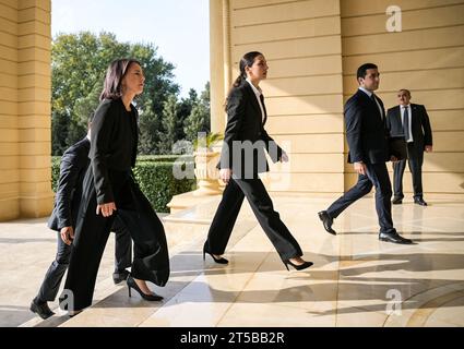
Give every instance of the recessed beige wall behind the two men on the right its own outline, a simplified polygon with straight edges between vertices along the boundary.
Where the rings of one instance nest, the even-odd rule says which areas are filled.
[[[389,0],[341,1],[345,99],[356,89],[355,72],[374,62],[381,72],[378,95],[397,105],[398,88],[426,106],[433,131],[433,153],[425,155],[424,191],[464,196],[464,1],[396,0],[402,32],[388,33]],[[391,170],[391,165],[389,165]],[[347,185],[356,176],[346,167]],[[412,193],[411,173],[404,177]],[[408,195],[408,194],[406,194]]]

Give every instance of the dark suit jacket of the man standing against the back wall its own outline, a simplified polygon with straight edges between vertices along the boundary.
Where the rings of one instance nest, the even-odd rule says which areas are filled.
[[[423,105],[411,104],[411,130],[413,132],[414,148],[424,152],[426,145],[432,145],[432,135],[429,116]],[[403,135],[400,106],[390,108],[386,113],[386,128],[392,136]]]

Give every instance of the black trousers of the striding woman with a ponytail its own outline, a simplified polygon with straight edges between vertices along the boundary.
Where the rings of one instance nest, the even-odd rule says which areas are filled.
[[[230,179],[211,224],[206,249],[213,254],[224,254],[245,196],[282,261],[301,256],[301,248],[274,210],[260,179]]]

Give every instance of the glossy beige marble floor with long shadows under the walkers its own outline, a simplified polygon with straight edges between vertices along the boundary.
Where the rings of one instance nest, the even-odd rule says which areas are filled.
[[[393,206],[397,231],[413,245],[378,240],[372,197],[358,201],[325,232],[317,213],[333,198],[274,196],[274,204],[314,265],[287,272],[245,205],[215,264],[202,245],[218,197],[165,217],[171,276],[165,297],[146,302],[115,286],[114,239],[98,274],[94,304],[70,318],[40,321],[27,311],[55,236],[44,219],[0,224],[0,326],[464,326],[464,203],[404,201]],[[134,293],[134,292],[133,292]],[[57,304],[52,304],[57,306]]]

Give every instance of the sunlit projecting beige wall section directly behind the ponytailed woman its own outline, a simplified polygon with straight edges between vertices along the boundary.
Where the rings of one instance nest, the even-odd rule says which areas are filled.
[[[214,0],[210,3],[217,5]],[[238,75],[238,62],[243,53],[259,50],[265,55],[270,71],[261,87],[266,97],[266,129],[278,143],[290,142],[289,166],[272,166],[266,184],[271,191],[343,192],[338,1],[222,3],[229,17],[229,33],[223,35],[229,37],[231,79]],[[211,32],[215,29],[212,27]],[[229,86],[230,83],[226,89]],[[219,118],[224,120],[224,112]],[[214,131],[224,132],[224,127]]]

